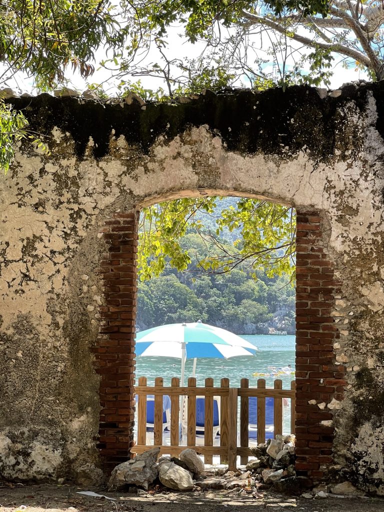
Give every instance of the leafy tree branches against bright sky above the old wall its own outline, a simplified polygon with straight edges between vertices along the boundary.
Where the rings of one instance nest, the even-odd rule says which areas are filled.
[[[19,72],[33,77],[38,91],[66,85],[68,69],[90,81],[101,49],[110,75],[89,86],[146,99],[227,86],[329,84],[335,58],[384,78],[378,0],[0,0],[0,21],[0,87]],[[176,30],[183,45],[174,44]],[[157,89],[143,82],[153,78],[162,83]],[[16,140],[20,127],[13,126],[2,130]],[[3,158],[4,170],[12,151]]]

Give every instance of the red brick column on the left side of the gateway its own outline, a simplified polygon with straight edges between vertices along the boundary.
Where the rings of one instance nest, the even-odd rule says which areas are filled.
[[[133,446],[138,215],[115,214],[102,230],[108,253],[99,269],[105,301],[95,353],[101,375],[98,447],[105,472],[126,461]]]

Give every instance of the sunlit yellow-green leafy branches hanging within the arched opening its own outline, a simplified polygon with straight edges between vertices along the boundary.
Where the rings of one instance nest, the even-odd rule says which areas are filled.
[[[178,271],[226,273],[242,268],[257,277],[294,274],[295,216],[291,208],[250,198],[186,198],[144,208],[139,227],[138,269],[142,281],[166,265]],[[203,215],[204,214],[204,215]],[[200,249],[185,234],[200,237]]]

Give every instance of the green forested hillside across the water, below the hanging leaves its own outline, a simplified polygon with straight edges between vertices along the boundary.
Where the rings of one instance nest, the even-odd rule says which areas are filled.
[[[198,234],[189,233],[183,245],[206,251]],[[177,272],[169,266],[159,278],[139,283],[137,328],[202,322],[237,334],[267,334],[268,327],[294,334],[295,293],[287,279],[234,269],[211,274],[191,264]]]

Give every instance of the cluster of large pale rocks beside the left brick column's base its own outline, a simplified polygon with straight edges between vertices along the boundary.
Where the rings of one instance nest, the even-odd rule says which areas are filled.
[[[174,490],[192,490],[195,486],[194,478],[198,478],[204,471],[204,462],[195,450],[186,449],[180,458],[161,457],[156,462],[160,448],[138,455],[114,468],[108,482],[110,490],[129,488],[132,485],[145,490],[157,480],[165,487]]]

